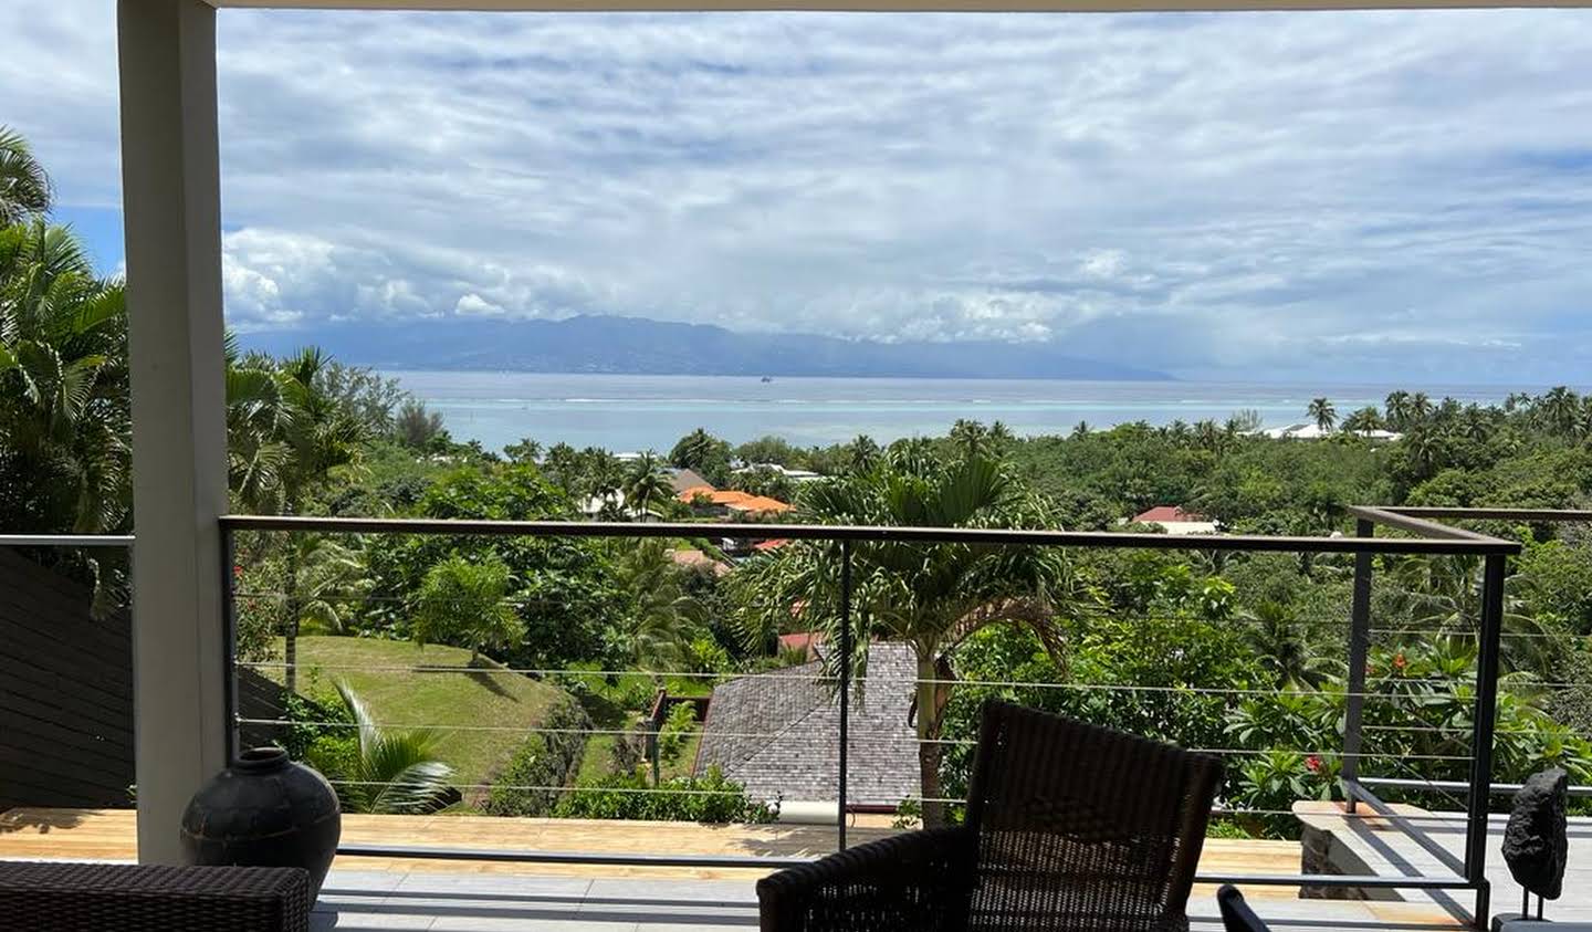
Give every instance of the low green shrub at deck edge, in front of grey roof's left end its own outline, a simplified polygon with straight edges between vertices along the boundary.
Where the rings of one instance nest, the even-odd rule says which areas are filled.
[[[747,789],[724,779],[718,768],[700,777],[673,777],[650,792],[640,773],[611,774],[584,782],[559,801],[560,819],[642,819],[661,822],[772,822],[778,805],[769,806],[747,795]]]

